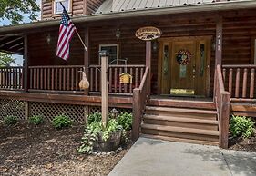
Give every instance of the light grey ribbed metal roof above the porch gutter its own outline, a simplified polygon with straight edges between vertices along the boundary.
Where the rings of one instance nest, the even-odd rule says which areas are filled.
[[[221,2],[227,1],[229,0],[222,0]],[[232,1],[235,0],[230,0],[230,2]],[[168,6],[203,5],[212,3],[220,2],[216,2],[216,0],[106,0],[97,9],[96,14],[106,14],[109,12],[122,12]]]

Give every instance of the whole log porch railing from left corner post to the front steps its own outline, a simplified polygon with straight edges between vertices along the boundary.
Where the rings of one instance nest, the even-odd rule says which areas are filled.
[[[29,91],[72,92],[81,93],[79,82],[82,79],[83,65],[30,66]],[[119,74],[129,73],[132,83],[119,83]],[[145,72],[145,65],[109,65],[109,93],[131,94],[138,88]],[[90,93],[100,93],[100,65],[90,65],[87,79]]]

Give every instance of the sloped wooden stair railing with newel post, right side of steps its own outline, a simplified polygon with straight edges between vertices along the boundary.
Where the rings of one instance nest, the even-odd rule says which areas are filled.
[[[228,148],[229,121],[230,121],[230,93],[225,91],[220,65],[216,70],[215,102],[219,120],[220,147]]]

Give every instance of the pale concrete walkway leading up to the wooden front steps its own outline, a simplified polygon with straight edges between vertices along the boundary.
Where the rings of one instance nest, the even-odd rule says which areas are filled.
[[[256,176],[256,152],[139,138],[108,176]]]

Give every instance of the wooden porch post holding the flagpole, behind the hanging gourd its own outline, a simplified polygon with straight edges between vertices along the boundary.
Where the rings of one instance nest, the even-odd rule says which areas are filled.
[[[89,78],[89,27],[87,26],[85,29],[85,44],[87,45],[87,51],[84,50],[84,66],[86,68],[85,72],[87,74],[87,79]],[[89,94],[89,89],[85,90],[85,94]]]

